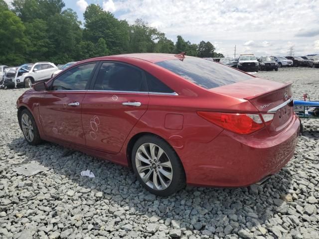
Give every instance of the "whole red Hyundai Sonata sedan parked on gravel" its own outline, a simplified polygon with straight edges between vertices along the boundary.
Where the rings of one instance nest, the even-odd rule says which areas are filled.
[[[183,54],[85,60],[17,101],[31,145],[47,140],[132,167],[150,192],[263,182],[293,156],[291,83]]]

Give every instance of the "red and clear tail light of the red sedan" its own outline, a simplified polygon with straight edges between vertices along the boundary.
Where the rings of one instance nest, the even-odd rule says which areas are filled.
[[[250,134],[265,127],[260,115],[197,112],[197,114],[220,127],[239,134]]]

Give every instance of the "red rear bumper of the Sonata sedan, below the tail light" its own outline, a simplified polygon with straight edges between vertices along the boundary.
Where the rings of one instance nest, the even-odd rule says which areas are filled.
[[[294,115],[281,133],[266,129],[253,135],[222,131],[206,144],[192,145],[192,158],[183,160],[187,183],[198,186],[244,187],[275,174],[293,157],[300,120]],[[197,156],[196,156],[197,155]]]

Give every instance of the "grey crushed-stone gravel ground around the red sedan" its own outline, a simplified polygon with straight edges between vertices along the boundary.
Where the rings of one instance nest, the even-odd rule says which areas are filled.
[[[319,99],[319,69],[257,75],[294,81],[296,99]],[[319,120],[303,120],[293,159],[262,186],[187,187],[160,198],[130,169],[80,152],[63,157],[53,143],[29,146],[16,119],[23,91],[0,91],[0,238],[319,239]],[[13,171],[31,161],[48,171]],[[82,177],[86,169],[96,177]]]

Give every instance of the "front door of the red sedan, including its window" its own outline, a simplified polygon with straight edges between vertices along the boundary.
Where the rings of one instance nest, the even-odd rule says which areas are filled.
[[[49,84],[39,104],[45,135],[74,144],[85,145],[82,128],[82,102],[96,63],[73,67]]]

